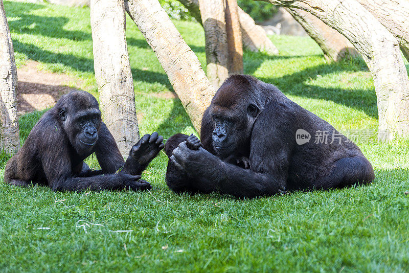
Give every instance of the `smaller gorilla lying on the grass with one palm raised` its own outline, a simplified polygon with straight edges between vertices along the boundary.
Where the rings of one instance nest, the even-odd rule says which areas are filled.
[[[156,132],[146,134],[124,163],[112,134],[101,121],[97,100],[74,91],[44,113],[21,149],[6,165],[4,180],[18,186],[48,185],[58,191],[150,189],[142,171],[164,147]],[[83,160],[95,152],[101,170]]]

